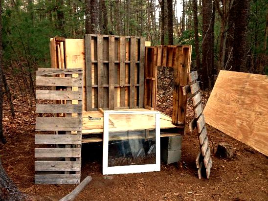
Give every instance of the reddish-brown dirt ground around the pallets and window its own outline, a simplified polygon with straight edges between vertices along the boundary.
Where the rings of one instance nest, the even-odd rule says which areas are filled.
[[[34,184],[35,107],[17,93],[14,100],[16,117],[12,118],[8,102],[4,102],[4,134],[7,143],[0,145],[3,166],[19,189],[29,200],[57,201],[76,185]],[[165,104],[159,110],[171,113]],[[187,122],[193,114],[187,112]],[[101,174],[101,144],[83,145],[82,179],[88,175],[92,181],[79,194],[77,201],[267,201],[268,158],[245,144],[207,125],[212,152],[210,179],[198,179],[195,164],[199,152],[196,132],[186,133],[182,142],[180,163],[161,163],[160,172],[113,175],[104,179]],[[223,159],[215,156],[219,142],[233,146],[236,156]]]

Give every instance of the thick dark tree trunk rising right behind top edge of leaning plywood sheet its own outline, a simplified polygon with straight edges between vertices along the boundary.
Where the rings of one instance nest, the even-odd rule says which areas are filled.
[[[236,0],[236,21],[234,28],[233,61],[234,71],[246,72],[246,31],[249,17],[250,0]]]

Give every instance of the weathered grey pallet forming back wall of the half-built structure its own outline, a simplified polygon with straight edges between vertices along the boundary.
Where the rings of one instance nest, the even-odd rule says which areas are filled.
[[[144,107],[145,38],[85,36],[87,111]]]

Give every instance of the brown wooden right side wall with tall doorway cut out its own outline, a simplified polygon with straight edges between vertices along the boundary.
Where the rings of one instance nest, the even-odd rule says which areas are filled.
[[[158,45],[145,49],[145,108],[156,110],[157,67],[173,67],[175,88],[173,93],[172,123],[184,126],[186,101],[182,87],[187,85],[191,66],[191,45]]]

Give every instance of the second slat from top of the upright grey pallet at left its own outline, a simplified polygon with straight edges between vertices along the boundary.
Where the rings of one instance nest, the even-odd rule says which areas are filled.
[[[82,87],[82,79],[78,77],[36,77],[37,86],[63,86],[63,87]]]

